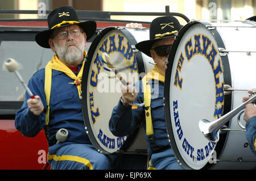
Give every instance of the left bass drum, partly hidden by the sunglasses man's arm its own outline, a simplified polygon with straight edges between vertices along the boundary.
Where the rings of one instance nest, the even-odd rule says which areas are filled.
[[[108,27],[100,31],[90,45],[82,75],[82,112],[86,133],[100,153],[147,154],[141,127],[132,135],[123,137],[116,137],[109,130],[112,110],[122,95],[122,84],[113,71],[104,69],[99,54],[108,53],[109,61],[116,65],[122,78],[135,83],[139,76],[154,68],[152,58],[135,49],[137,42],[148,37],[146,28]]]

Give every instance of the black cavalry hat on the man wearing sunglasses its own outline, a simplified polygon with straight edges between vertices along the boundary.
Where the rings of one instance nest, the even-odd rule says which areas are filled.
[[[174,16],[161,16],[152,20],[150,24],[150,40],[141,41],[135,47],[151,57],[150,49],[159,40],[175,37],[181,26]]]

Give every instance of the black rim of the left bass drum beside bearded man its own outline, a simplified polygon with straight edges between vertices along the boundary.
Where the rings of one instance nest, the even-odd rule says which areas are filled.
[[[135,129],[135,131],[130,134],[129,136],[127,136],[126,138],[126,141],[123,143],[123,145],[117,149],[116,151],[114,151],[113,153],[110,153],[109,151],[105,150],[104,148],[102,148],[102,146],[98,143],[94,133],[93,133],[93,130],[90,126],[90,119],[89,119],[89,114],[88,114],[88,106],[87,106],[87,81],[88,81],[88,78],[89,78],[89,70],[90,70],[90,65],[91,65],[91,62],[92,62],[92,58],[93,58],[93,54],[96,50],[96,47],[98,45],[98,43],[100,43],[102,37],[108,33],[109,31],[112,31],[112,30],[119,30],[123,33],[123,35],[127,38],[127,40],[130,41],[133,41],[133,43],[137,43],[137,41],[135,39],[131,39],[131,37],[133,37],[133,35],[131,35],[131,33],[129,31],[127,31],[125,28],[120,28],[120,29],[117,29],[118,27],[107,27],[107,28],[104,28],[103,30],[101,30],[100,32],[98,32],[97,36],[95,37],[94,41],[92,42],[92,44],[90,45],[90,48],[88,50],[88,54],[86,55],[86,61],[85,61],[85,65],[84,65],[84,70],[83,70],[83,74],[82,74],[82,79],[86,80],[86,83],[81,85],[81,90],[82,90],[82,100],[81,100],[81,104],[82,104],[82,115],[84,117],[84,125],[85,125],[85,132],[86,134],[88,135],[90,141],[92,142],[93,146],[96,148],[96,150],[98,150],[100,153],[103,153],[103,154],[121,154],[121,153],[125,153],[127,149],[130,148],[130,146],[133,144],[133,142],[135,141],[135,138],[137,137],[137,134],[139,133],[139,129],[140,127],[138,126],[137,129]],[[139,56],[141,55],[141,58],[142,58],[142,54],[141,52],[136,52],[136,54],[134,53],[134,55],[136,56]],[[137,66],[138,66],[138,71],[143,71],[145,70],[144,68],[144,63],[143,61],[139,62],[139,65],[138,65],[138,58],[134,56],[135,58],[135,61],[137,62]],[[141,59],[142,60],[142,59]],[[139,69],[140,67],[140,69]],[[143,67],[144,69],[142,69],[141,67]],[[139,72],[140,73],[140,72]],[[85,90],[85,91],[83,91]],[[89,127],[88,127],[89,125]]]

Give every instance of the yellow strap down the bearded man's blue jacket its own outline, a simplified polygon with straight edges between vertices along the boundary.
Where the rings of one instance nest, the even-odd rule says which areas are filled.
[[[46,125],[49,123],[49,100],[51,96],[51,87],[52,87],[52,69],[46,66],[46,73],[44,78],[44,92],[46,93]]]

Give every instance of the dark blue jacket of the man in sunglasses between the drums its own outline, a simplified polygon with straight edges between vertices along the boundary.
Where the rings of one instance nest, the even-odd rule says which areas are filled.
[[[154,141],[151,142],[146,136],[148,155],[158,152],[161,148],[170,146],[167,137],[166,121],[164,117],[163,93],[164,82],[150,80],[147,84],[151,85],[151,117],[154,129]],[[134,85],[138,91],[137,99],[134,103],[143,103],[142,81]],[[134,107],[134,106],[133,106]],[[124,106],[119,100],[118,105],[114,107],[112,117],[109,121],[109,129],[115,136],[126,136],[141,124],[146,134],[146,119],[144,106],[132,108],[132,106]]]

